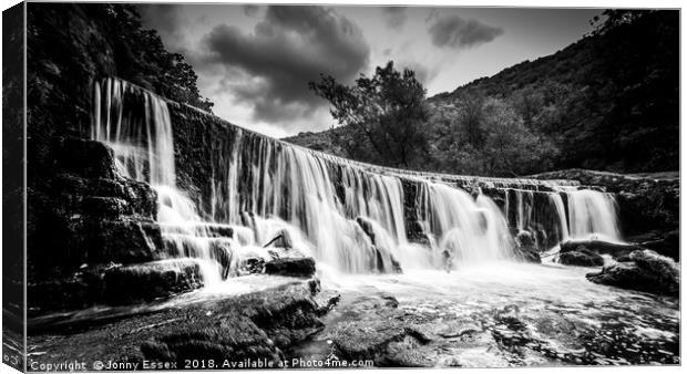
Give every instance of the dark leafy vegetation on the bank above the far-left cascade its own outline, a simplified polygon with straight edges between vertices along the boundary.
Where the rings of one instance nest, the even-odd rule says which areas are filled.
[[[89,136],[90,93],[105,76],[212,108],[192,66],[142,25],[134,6],[29,3],[27,9],[29,135],[40,149],[55,136]]]

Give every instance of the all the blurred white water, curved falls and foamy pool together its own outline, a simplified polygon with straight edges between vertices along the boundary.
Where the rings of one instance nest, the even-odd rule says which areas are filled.
[[[213,156],[211,204],[201,209],[175,184],[166,102],[114,79],[98,84],[94,97],[93,138],[112,146],[124,175],[158,193],[168,256],[206,263],[205,288],[167,307],[288,281],[222,280],[212,252],[217,238],[204,232],[212,224],[232,228],[222,247],[232,267],[249,257],[267,259],[263,246],[287,232],[296,252],[316,258],[322,288],[341,293],[325,331],[294,354],[325,355],[339,323],[370,318],[356,310],[358,298],[388,292],[406,321],[430,330],[476,326],[474,344],[440,339],[444,345],[425,352],[432,365],[679,362],[678,300],[592,283],[585,268],[513,260],[522,231],[546,248],[571,238],[622,241],[609,194],[554,183],[535,191],[517,180],[482,178],[502,194],[498,204],[422,173],[355,163],[236,128],[229,146]],[[413,201],[404,200],[408,181],[417,186]],[[408,219],[418,222],[424,241],[409,238]]]

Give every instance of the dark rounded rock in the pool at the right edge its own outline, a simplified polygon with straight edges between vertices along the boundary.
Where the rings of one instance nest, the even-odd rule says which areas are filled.
[[[594,283],[679,295],[679,266],[652,250],[634,251],[627,257],[627,261],[606,266],[599,272],[588,273],[586,277]]]

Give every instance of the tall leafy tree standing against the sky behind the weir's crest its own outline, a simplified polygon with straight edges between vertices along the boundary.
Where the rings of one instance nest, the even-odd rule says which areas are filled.
[[[378,66],[371,77],[361,74],[352,86],[329,75],[309,86],[329,101],[330,113],[340,126],[352,128],[345,147],[372,153],[351,156],[389,166],[418,165],[417,159],[427,147],[422,124],[429,112],[427,91],[412,70],[399,72],[390,61],[384,67]]]

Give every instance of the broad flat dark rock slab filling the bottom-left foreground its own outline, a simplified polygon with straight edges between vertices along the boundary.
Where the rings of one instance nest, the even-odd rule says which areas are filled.
[[[183,370],[194,368],[185,366],[185,360],[205,359],[215,360],[214,368],[227,371],[252,368],[239,366],[247,359],[278,365],[286,347],[322,330],[318,315],[324,305],[305,281],[174,305],[100,325],[93,319],[59,330],[43,325],[29,340],[32,350],[51,360],[112,360],[137,363],[139,370],[143,360],[166,361],[175,365],[167,368]]]

